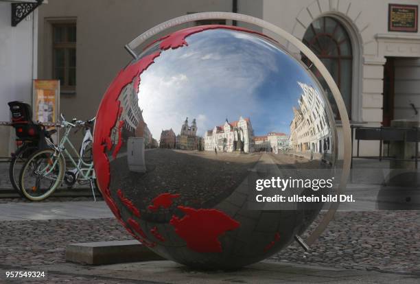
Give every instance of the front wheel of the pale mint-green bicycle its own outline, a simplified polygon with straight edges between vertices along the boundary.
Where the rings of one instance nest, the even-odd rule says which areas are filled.
[[[23,166],[20,187],[28,200],[44,200],[61,185],[65,174],[65,161],[54,149],[32,154]]]

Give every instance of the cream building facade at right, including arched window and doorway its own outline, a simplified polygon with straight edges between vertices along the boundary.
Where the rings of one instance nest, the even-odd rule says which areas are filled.
[[[340,88],[351,124],[379,127],[393,119],[420,120],[419,29],[390,29],[390,4],[417,8],[419,1],[301,0],[285,6],[265,0],[262,5],[264,20],[303,40],[323,61]],[[288,42],[281,44],[302,58]],[[342,143],[340,117],[336,124]],[[362,156],[377,156],[377,148],[377,141],[360,141]]]

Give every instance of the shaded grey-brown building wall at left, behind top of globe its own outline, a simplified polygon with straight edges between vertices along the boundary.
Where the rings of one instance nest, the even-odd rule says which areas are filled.
[[[117,72],[132,59],[124,49],[126,43],[168,19],[211,10],[231,12],[233,3],[224,0],[179,0],[176,3],[168,0],[49,1],[48,5],[38,8],[37,77],[60,78],[54,66],[54,33],[60,27],[75,30],[75,40],[68,47],[74,51],[75,67],[65,67],[67,75],[63,79],[65,86],[61,88],[60,111],[65,117],[88,119],[95,116],[102,96]],[[261,17],[262,7],[253,0],[246,0],[238,12]],[[22,45],[27,46],[30,45]],[[30,88],[20,93],[30,94]]]

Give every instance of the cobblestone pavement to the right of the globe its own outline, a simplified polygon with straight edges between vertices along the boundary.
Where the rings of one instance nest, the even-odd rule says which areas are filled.
[[[310,252],[294,243],[272,259],[420,276],[420,211],[337,212]]]

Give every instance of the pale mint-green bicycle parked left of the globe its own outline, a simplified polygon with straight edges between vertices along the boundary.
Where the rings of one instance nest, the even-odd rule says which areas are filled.
[[[80,184],[89,182],[93,198],[95,197],[96,176],[93,169],[93,161],[91,159],[91,147],[93,137],[91,134],[91,126],[95,117],[87,121],[73,121],[68,122],[61,115],[62,121],[60,127],[65,128],[65,133],[56,146],[49,143],[48,149],[43,149],[35,152],[28,158],[23,166],[21,176],[19,178],[21,191],[23,196],[31,201],[40,201],[48,198],[64,181],[68,186],[72,187],[75,182]],[[84,127],[85,133],[80,147],[80,152],[75,150],[73,143],[69,139],[71,130],[75,127]],[[77,130],[76,130],[77,132]],[[76,159],[73,159],[66,146],[69,146]],[[91,148],[90,148],[91,149]],[[89,156],[86,159],[86,153]],[[73,169],[66,171],[66,158],[69,159]],[[76,161],[75,161],[76,160]]]

